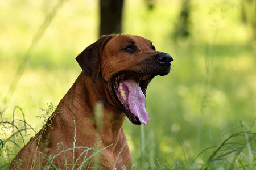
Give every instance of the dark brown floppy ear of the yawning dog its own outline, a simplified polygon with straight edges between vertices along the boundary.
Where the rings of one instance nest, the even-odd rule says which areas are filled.
[[[100,73],[101,55],[105,44],[112,39],[112,35],[101,36],[96,42],[88,46],[77,57],[76,61],[85,73],[92,76],[92,80],[95,83]]]

